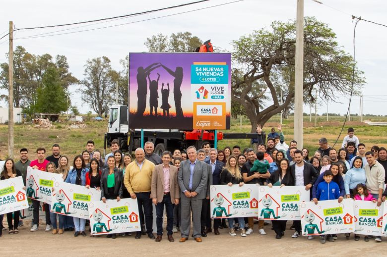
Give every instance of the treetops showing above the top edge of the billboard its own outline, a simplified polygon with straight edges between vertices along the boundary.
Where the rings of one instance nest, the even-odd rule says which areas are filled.
[[[153,35],[144,43],[150,52],[190,52],[201,44],[202,41],[188,31],[172,33],[170,37],[163,34]]]

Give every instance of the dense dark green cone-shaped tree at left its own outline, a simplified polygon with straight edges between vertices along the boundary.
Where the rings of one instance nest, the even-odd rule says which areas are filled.
[[[36,111],[60,113],[66,111],[69,106],[69,94],[61,85],[58,70],[49,67],[42,76],[42,85],[37,89]]]

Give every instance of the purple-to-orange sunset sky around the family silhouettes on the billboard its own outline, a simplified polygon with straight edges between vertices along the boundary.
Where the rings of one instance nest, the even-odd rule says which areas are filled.
[[[130,53],[129,54],[129,112],[136,112],[137,109],[137,68],[147,66],[160,62],[172,71],[176,67],[183,68],[183,83],[181,86],[182,93],[182,109],[185,117],[192,116],[193,103],[191,100],[191,65],[194,62],[226,62],[229,67],[229,81],[231,81],[231,63],[230,55],[227,53]],[[162,113],[160,108],[162,104],[161,87],[164,83],[164,88],[167,88],[169,83],[170,93],[168,103],[172,106],[169,109],[170,114],[175,115],[175,102],[173,95],[173,80],[174,77],[170,75],[163,67],[158,67],[150,73],[151,80],[157,80],[157,73],[160,74],[158,83],[158,113]],[[146,96],[145,113],[149,113],[149,80],[147,79],[148,93]],[[230,112],[230,104],[226,104],[226,113]]]

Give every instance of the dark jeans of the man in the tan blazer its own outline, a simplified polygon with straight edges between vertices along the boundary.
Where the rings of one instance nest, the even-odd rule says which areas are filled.
[[[163,202],[157,203],[156,205],[156,225],[157,225],[157,235],[163,235],[163,214],[164,214],[164,205],[165,210],[167,211],[167,231],[168,235],[172,235],[173,227],[173,207],[175,206],[171,202],[171,194],[166,194],[163,197]]]

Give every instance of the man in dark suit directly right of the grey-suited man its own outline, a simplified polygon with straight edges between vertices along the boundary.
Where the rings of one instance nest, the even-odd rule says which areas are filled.
[[[220,185],[220,172],[222,172],[222,169],[223,169],[223,162],[216,160],[217,156],[218,156],[218,151],[214,148],[211,148],[209,150],[209,160],[205,161],[205,163],[209,164],[209,167],[210,167],[210,172],[211,172],[210,174],[212,177],[211,185]],[[208,200],[203,199],[201,214],[202,214],[201,228],[203,230],[205,225],[206,229],[204,231],[204,234],[210,233],[211,232],[210,198],[208,198]],[[214,219],[215,235],[219,235],[220,220],[221,219]]]

